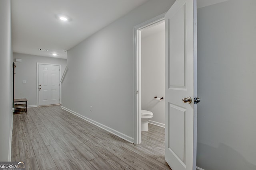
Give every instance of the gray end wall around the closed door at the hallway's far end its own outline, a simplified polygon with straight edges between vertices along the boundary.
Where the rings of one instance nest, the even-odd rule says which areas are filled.
[[[21,63],[16,63],[14,96],[15,98],[26,98],[28,100],[28,106],[37,105],[37,63],[60,64],[61,76],[67,65],[66,59],[53,57],[13,53],[13,58],[22,59]],[[22,83],[22,80],[26,80],[26,83]]]

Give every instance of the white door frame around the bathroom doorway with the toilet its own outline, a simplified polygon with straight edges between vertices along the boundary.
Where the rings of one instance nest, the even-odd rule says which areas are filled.
[[[165,20],[165,14],[156,16],[134,27],[134,72],[135,72],[135,107],[134,107],[134,144],[141,143],[141,30]]]

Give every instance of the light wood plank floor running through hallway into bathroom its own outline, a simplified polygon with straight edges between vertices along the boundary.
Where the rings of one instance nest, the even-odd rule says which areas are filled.
[[[14,115],[12,161],[26,161],[26,170],[170,170],[164,128],[149,128],[133,145],[60,106],[28,108]]]

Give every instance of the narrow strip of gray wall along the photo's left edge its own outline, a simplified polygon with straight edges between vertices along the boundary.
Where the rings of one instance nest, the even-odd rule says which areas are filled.
[[[0,161],[10,161],[12,127],[11,5],[0,1]]]

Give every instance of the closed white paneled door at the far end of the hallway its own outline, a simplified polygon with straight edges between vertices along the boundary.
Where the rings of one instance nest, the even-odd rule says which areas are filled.
[[[39,106],[60,104],[60,66],[38,64]]]

